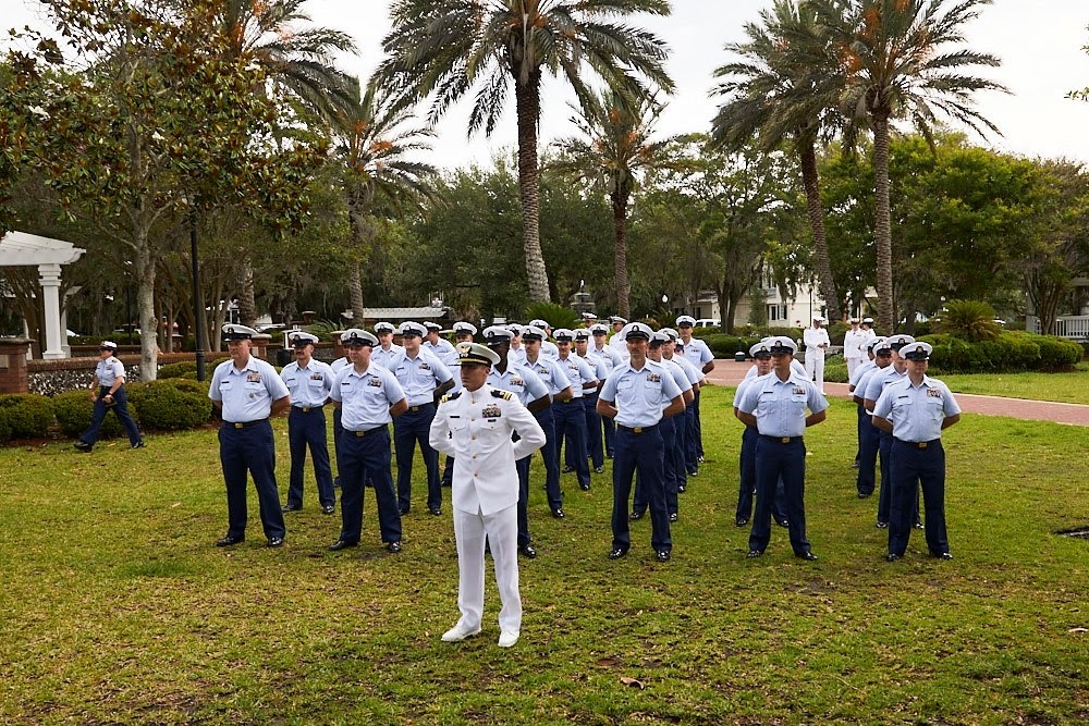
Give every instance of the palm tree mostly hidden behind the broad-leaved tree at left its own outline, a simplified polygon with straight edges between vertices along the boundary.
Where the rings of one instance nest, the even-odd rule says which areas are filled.
[[[333,64],[337,52],[355,52],[346,33],[305,27],[310,16],[306,0],[217,0],[216,23],[227,38],[230,52],[261,66],[277,90],[303,113],[329,122],[338,110],[352,103],[352,78]],[[358,84],[356,84],[358,85]],[[242,321],[257,318],[254,302],[254,268],[243,261]]]

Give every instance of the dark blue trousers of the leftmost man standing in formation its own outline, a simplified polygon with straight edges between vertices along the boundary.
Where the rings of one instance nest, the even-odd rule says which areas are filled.
[[[283,537],[283,513],[276,484],[276,444],[272,426],[266,421],[237,429],[223,422],[219,428],[219,460],[223,466],[227,483],[228,537],[245,537],[248,512],[246,508],[246,480],[253,475],[260,505],[261,527],[265,537]]]

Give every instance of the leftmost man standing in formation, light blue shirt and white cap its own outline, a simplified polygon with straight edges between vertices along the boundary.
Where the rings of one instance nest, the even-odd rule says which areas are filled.
[[[220,410],[219,459],[227,483],[227,536],[216,542],[225,547],[246,539],[246,473],[254,477],[261,526],[270,547],[283,544],[286,529],[276,483],[276,444],[269,417],[291,406],[287,386],[270,364],[250,355],[257,331],[225,325],[223,337],[230,360],[216,367],[208,397]]]

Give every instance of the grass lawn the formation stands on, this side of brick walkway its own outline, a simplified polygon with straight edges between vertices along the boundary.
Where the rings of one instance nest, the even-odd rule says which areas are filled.
[[[329,553],[307,476],[287,544],[212,542],[227,512],[212,431],[149,447],[0,450],[0,723],[4,724],[1075,724],[1089,719],[1089,525],[1084,428],[966,415],[946,432],[955,559],[883,559],[876,497],[855,495],[855,409],[807,436],[817,563],[774,528],[745,559],[734,527],[741,424],[731,389],[703,397],[708,460],[682,494],[674,558],[650,525],[610,562],[609,469],[562,521],[535,464],[522,640],[439,641],[457,619],[448,504],[414,487],[405,549]],[[277,421],[281,492],[287,446]],[[417,469],[419,463],[417,460]],[[418,481],[421,481],[417,477]],[[625,685],[636,679],[644,688]]]

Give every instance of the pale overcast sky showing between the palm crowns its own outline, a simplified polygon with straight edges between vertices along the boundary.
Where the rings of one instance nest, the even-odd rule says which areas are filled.
[[[4,28],[34,23],[34,0],[0,0]],[[355,38],[358,54],[341,59],[341,66],[366,77],[381,58],[381,38],[389,30],[390,0],[308,0],[304,8],[316,25],[343,30]],[[673,0],[669,17],[643,16],[643,26],[671,48],[668,70],[676,84],[658,131],[661,135],[706,132],[720,99],[711,95],[712,73],[731,57],[726,42],[744,39],[744,24],[757,21],[771,0]],[[996,81],[1011,93],[977,95],[978,108],[998,125],[1002,136],[971,141],[1025,157],[1067,158],[1089,163],[1089,102],[1065,98],[1089,87],[1089,2],[1086,0],[994,0],[966,26],[967,45],[1002,60],[996,69],[977,74]],[[495,133],[467,137],[469,106],[453,107],[439,122],[433,158],[444,168],[487,164],[515,146],[513,93],[511,109]],[[541,139],[574,133],[568,119],[573,95],[555,79],[541,91]],[[956,127],[956,126],[954,126]]]

